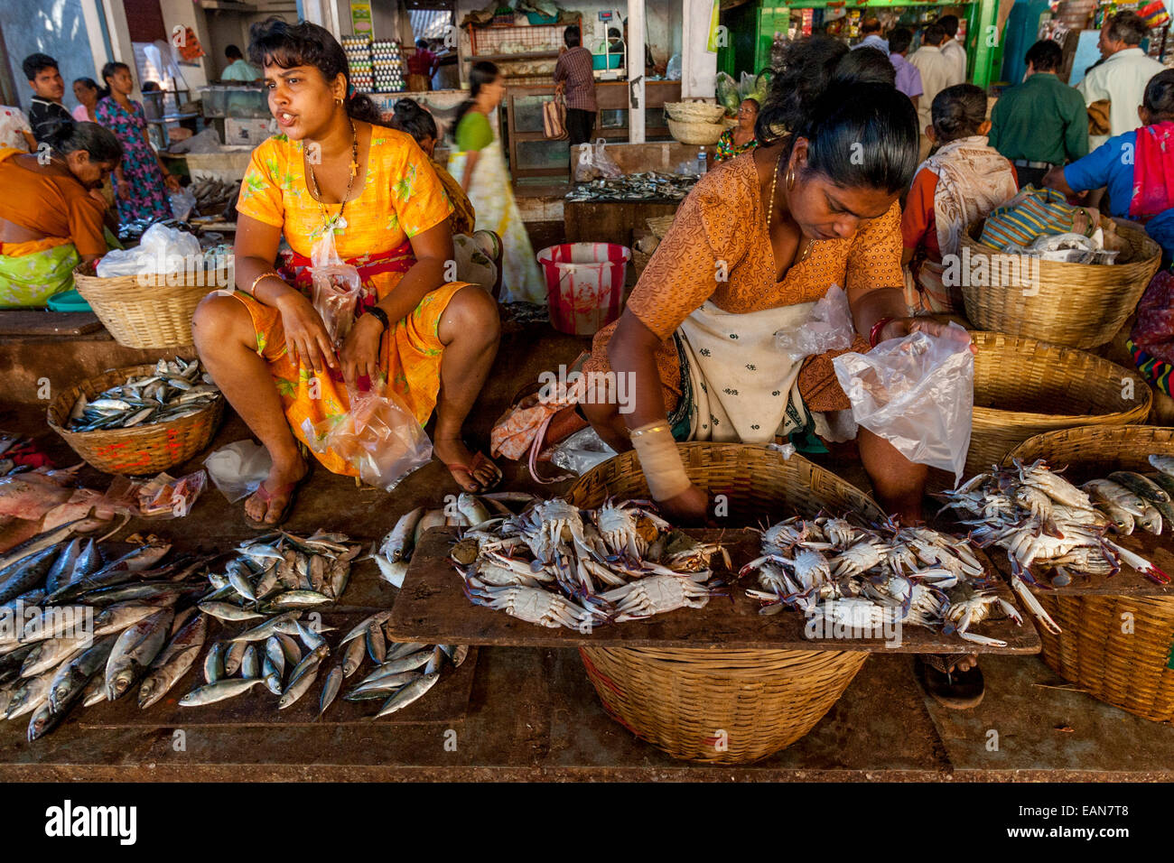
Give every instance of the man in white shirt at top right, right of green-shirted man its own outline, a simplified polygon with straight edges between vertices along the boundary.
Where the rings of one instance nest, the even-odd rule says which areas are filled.
[[[1088,149],[1094,150],[1114,135],[1124,135],[1140,126],[1138,106],[1149,79],[1162,65],[1146,56],[1138,46],[1149,35],[1149,28],[1135,12],[1119,12],[1101,27],[1104,62],[1088,70],[1077,85],[1085,104],[1108,100],[1108,135],[1089,135]]]

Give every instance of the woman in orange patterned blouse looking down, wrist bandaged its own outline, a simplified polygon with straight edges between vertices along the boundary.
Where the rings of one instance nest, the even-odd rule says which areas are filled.
[[[675,519],[703,520],[709,501],[674,438],[850,436],[836,416],[850,405],[832,355],[801,366],[774,346],[830,285],[848,294],[852,350],[866,351],[866,337],[942,331],[909,317],[904,302],[897,198],[917,168],[917,115],[877,58],[823,38],[794,45],[758,116],[763,143],[697,183],[620,321],[596,335],[583,371],[627,375],[633,399],[625,413],[614,403],[583,413],[613,449],[636,449]],[[920,519],[926,468],[864,429],[858,440],[882,506]]]

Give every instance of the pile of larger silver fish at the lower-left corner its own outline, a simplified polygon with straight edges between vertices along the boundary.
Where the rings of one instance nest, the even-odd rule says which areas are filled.
[[[0,565],[0,714],[31,714],[28,739],[75,707],[116,700],[140,687],[140,707],[163,696],[190,668],[207,616],[176,602],[204,591],[201,565],[150,538],[124,554],[70,537],[76,524],[35,537]]]

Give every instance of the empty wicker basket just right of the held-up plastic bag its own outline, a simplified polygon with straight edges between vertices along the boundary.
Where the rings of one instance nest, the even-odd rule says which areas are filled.
[[[1133,369],[1072,348],[972,332],[974,426],[966,474],[989,470],[1034,434],[1143,423],[1153,393]]]

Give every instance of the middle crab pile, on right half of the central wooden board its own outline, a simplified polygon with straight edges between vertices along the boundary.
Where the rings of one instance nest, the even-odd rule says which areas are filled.
[[[971,626],[1000,613],[1023,622],[984,579],[967,541],[927,527],[790,518],[762,532],[762,555],[740,574],[753,572],[758,588],[747,595],[763,604],[761,614],[792,607],[823,623],[821,632],[911,625],[1006,647]]]

